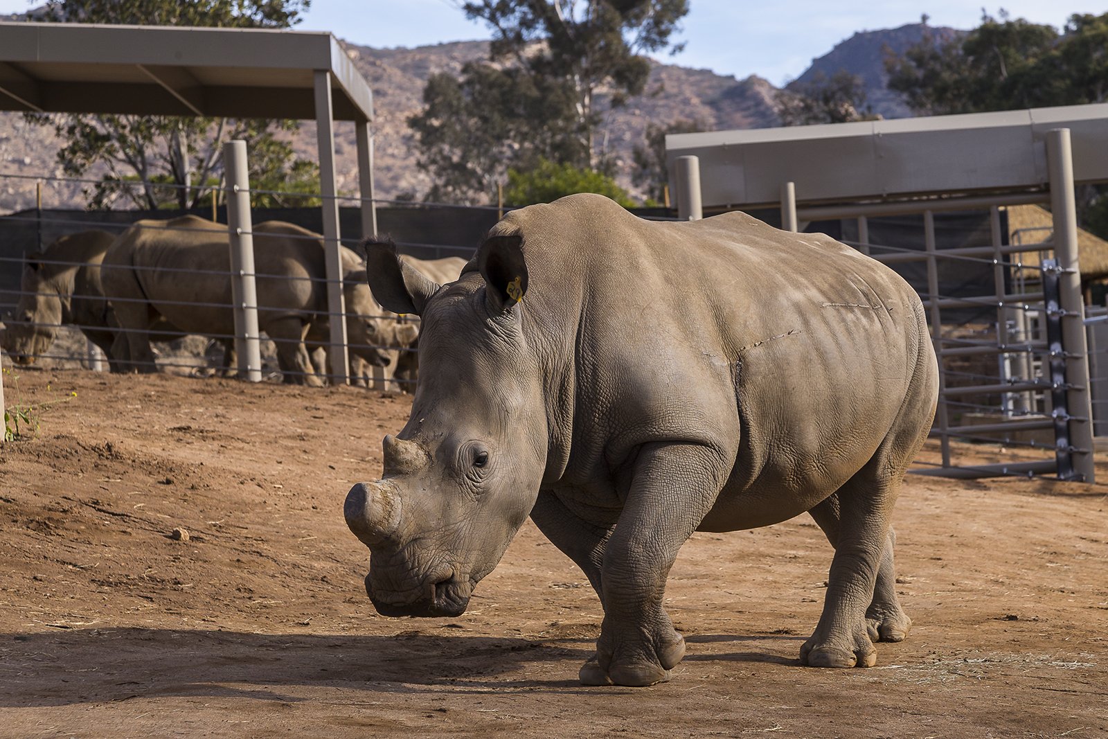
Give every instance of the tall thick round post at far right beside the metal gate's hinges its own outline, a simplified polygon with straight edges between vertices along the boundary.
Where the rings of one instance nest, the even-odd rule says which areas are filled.
[[[1069,129],[1046,134],[1050,176],[1050,213],[1054,218],[1054,256],[1058,276],[1058,299],[1063,310],[1061,341],[1066,353],[1066,407],[1069,411],[1069,444],[1074,472],[1095,482],[1092,464],[1092,403],[1089,398],[1088,345],[1085,337],[1085,297],[1077,257],[1077,207],[1074,198],[1074,160]]]

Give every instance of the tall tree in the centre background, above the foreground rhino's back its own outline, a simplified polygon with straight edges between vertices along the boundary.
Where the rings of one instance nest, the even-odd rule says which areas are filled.
[[[456,84],[438,75],[429,81],[425,107],[409,123],[420,166],[442,183],[434,194],[470,201],[489,197],[506,167],[533,167],[541,157],[611,167],[595,131],[608,111],[643,92],[650,71],[645,54],[669,48],[688,12],[687,0],[459,7],[492,29],[489,63],[466,65]]]

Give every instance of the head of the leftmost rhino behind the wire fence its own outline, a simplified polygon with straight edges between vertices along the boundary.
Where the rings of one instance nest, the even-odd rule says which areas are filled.
[[[19,305],[2,335],[3,349],[17,365],[32,365],[50,348],[62,322],[62,294],[69,297],[60,280],[73,268],[42,264],[41,259],[41,254],[27,255]]]

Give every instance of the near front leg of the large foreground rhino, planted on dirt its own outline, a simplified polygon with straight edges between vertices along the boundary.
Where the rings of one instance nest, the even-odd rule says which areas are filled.
[[[685,639],[663,608],[677,551],[711,509],[729,469],[699,444],[644,445],[601,567],[604,623],[586,685],[647,686],[669,679]]]

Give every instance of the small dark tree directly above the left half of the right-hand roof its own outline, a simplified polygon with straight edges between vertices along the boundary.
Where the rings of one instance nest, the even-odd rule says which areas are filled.
[[[817,72],[810,82],[798,80],[778,90],[774,97],[781,125],[849,123],[879,117],[865,104],[862,78],[845,70],[830,78]]]

